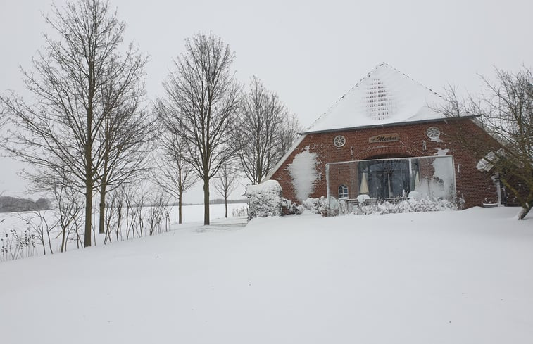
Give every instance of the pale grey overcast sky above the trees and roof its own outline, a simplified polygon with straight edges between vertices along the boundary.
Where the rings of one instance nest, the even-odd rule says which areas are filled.
[[[27,96],[19,66],[31,70],[42,33],[51,32],[42,18],[50,4],[0,0],[0,93]],[[149,98],[162,94],[184,39],[211,31],[235,51],[238,79],[262,79],[305,126],[382,61],[434,91],[455,84],[474,94],[478,75],[491,77],[494,66],[533,65],[531,0],[111,0],[111,6],[127,23],[125,42],[150,56]],[[22,193],[21,165],[8,158],[0,163],[0,193]],[[201,192],[187,198],[200,201]]]

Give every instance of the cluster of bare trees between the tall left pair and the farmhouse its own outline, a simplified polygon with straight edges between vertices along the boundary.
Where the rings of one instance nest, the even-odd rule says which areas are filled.
[[[181,204],[184,191],[203,182],[204,224],[210,223],[210,182],[225,199],[239,174],[260,183],[296,139],[299,124],[278,96],[251,78],[244,92],[232,72],[234,53],[214,34],[187,39],[174,61],[157,101],[163,134],[159,181],[174,188]],[[239,173],[242,172],[242,173]]]

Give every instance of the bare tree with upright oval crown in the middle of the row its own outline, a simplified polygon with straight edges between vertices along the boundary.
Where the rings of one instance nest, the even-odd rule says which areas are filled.
[[[168,122],[181,128],[185,160],[203,181],[203,223],[209,224],[209,181],[234,153],[232,125],[239,104],[239,85],[230,72],[234,53],[213,34],[196,34],[175,60],[163,82]]]

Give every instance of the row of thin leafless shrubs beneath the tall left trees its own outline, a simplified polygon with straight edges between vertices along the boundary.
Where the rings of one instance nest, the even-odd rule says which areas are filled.
[[[84,247],[83,197],[65,184],[54,189],[55,211],[39,209],[15,215],[19,226],[0,238],[0,261],[65,252]],[[125,241],[161,234],[170,229],[168,194],[139,184],[127,184],[108,193],[104,236],[99,243]],[[2,222],[3,220],[0,220]],[[21,229],[20,224],[23,224]],[[93,227],[93,231],[96,228]],[[96,240],[92,242],[96,245]]]

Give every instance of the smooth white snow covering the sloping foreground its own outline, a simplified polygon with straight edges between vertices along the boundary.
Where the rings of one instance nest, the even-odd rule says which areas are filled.
[[[1,341],[532,343],[517,212],[232,219],[3,262]]]

